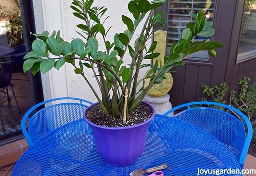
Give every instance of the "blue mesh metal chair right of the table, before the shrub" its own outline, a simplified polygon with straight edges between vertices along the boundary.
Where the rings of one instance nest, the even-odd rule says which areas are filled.
[[[173,117],[192,123],[219,139],[243,168],[252,139],[252,125],[245,114],[231,106],[210,101],[185,103],[163,115],[171,112],[174,112]]]

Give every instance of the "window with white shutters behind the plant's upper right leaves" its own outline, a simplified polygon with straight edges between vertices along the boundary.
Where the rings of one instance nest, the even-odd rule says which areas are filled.
[[[212,21],[214,5],[215,0],[170,0],[167,24],[167,51],[169,52],[171,44],[179,40],[179,32],[182,33],[186,28],[186,24],[193,20],[189,15],[190,12],[198,13],[200,9],[203,9],[207,20]],[[201,39],[202,37],[195,38],[198,41]],[[188,59],[208,61],[208,52],[200,51],[190,55]]]

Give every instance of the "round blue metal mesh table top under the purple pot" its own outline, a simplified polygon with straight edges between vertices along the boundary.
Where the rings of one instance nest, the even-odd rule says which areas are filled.
[[[171,167],[163,170],[165,176],[195,176],[198,168],[241,170],[231,152],[208,132],[180,119],[156,115],[148,128],[145,150],[132,165],[106,163],[96,150],[91,128],[79,119],[36,141],[19,159],[12,175],[128,176],[133,170],[163,163]]]

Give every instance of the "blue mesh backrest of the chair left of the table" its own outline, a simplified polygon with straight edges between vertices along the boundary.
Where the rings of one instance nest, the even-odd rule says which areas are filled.
[[[79,98],[61,97],[34,105],[21,121],[21,130],[28,145],[58,127],[83,118],[83,111],[91,104]],[[45,107],[38,110],[42,106]]]

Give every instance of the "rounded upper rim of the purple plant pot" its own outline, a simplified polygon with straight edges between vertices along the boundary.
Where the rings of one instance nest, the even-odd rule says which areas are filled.
[[[144,121],[144,122],[142,122],[142,123],[139,123],[139,124],[136,124],[136,125],[131,125],[131,126],[128,126],[128,127],[104,127],[104,126],[96,125],[95,123],[92,123],[91,121],[89,121],[89,120],[86,118],[85,114],[86,114],[87,110],[89,110],[91,107],[97,105],[98,102],[93,103],[92,105],[88,106],[88,107],[85,109],[85,111],[83,112],[83,119],[85,119],[85,121],[86,121],[89,125],[93,125],[93,126],[95,126],[95,127],[104,128],[104,129],[108,129],[108,130],[127,130],[127,129],[129,129],[129,128],[140,127],[141,125],[144,125],[145,123],[150,122],[150,121],[154,118],[154,116],[156,115],[156,110],[155,110],[155,108],[154,108],[152,105],[150,105],[149,103],[147,103],[147,102],[145,102],[145,101],[141,101],[141,103],[150,106],[150,107],[152,108],[152,110],[153,110],[153,114],[152,114],[152,116],[151,116],[149,119],[147,119],[146,121]]]

